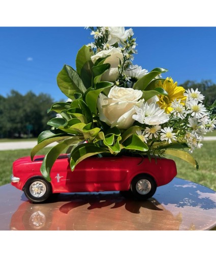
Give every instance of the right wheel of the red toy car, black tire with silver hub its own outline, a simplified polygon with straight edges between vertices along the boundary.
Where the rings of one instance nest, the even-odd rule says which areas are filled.
[[[138,174],[131,182],[131,191],[135,198],[146,200],[155,194],[157,184],[148,174]]]

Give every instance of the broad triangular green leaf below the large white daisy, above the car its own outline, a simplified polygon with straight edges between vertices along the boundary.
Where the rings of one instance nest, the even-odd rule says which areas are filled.
[[[122,143],[123,147],[131,150],[138,150],[142,152],[148,151],[148,146],[144,143],[137,134],[133,134]]]

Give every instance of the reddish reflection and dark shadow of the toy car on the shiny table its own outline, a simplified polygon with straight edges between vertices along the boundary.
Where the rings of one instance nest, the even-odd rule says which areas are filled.
[[[174,216],[155,198],[137,201],[119,193],[99,193],[59,194],[56,200],[43,204],[25,201],[13,214],[10,229],[166,230],[167,224],[168,230],[175,230],[181,223],[181,214]]]

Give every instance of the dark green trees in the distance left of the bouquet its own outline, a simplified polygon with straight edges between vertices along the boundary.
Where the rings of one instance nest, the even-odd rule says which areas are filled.
[[[47,114],[54,103],[47,94],[28,92],[23,96],[12,90],[7,98],[0,96],[0,103],[0,137],[20,137],[29,131],[37,137],[49,128],[46,123],[54,117],[53,112]]]

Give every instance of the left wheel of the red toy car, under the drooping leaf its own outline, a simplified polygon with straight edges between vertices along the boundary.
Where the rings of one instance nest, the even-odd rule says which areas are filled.
[[[52,194],[51,184],[41,177],[29,179],[23,189],[25,196],[34,203],[45,201]]]

